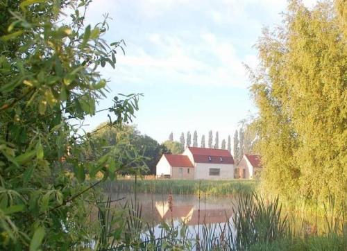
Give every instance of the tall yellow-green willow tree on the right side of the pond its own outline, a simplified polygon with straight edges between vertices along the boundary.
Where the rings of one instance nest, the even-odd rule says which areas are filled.
[[[282,26],[264,29],[251,73],[259,108],[264,182],[287,196],[347,194],[346,1],[311,10],[289,3]]]

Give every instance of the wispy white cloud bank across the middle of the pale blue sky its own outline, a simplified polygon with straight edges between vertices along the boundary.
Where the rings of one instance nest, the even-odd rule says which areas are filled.
[[[193,43],[178,36],[153,33],[147,35],[145,44],[155,48],[155,53],[129,44],[129,53],[119,58],[118,73],[132,76],[126,78],[130,83],[246,87],[242,61],[249,60],[250,56],[239,58],[231,42],[222,41],[212,33],[196,36]]]

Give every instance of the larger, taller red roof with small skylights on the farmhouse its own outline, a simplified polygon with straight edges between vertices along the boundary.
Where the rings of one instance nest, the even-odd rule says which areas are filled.
[[[234,159],[228,150],[189,147],[196,163],[234,164]]]

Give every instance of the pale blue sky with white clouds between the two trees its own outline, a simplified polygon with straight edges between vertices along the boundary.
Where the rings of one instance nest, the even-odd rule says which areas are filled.
[[[212,130],[221,144],[257,112],[244,64],[257,65],[262,28],[280,24],[286,6],[280,0],[94,0],[85,24],[108,13],[103,38],[126,42],[116,68],[99,69],[110,92],[98,108],[110,107],[119,93],[142,93],[133,123],[143,134],[161,143],[170,132],[179,141],[181,132],[196,130],[200,144]],[[103,121],[107,112],[88,117],[85,130]]]

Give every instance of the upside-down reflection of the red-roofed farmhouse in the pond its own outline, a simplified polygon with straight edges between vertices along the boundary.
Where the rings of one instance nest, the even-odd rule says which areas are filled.
[[[180,219],[187,225],[224,223],[229,219],[228,209],[200,209],[194,205],[179,205],[169,210],[168,202],[155,202],[155,209],[162,220]]]

